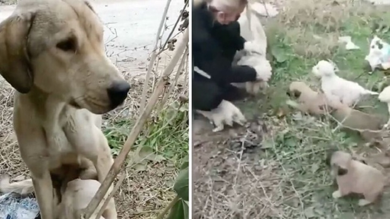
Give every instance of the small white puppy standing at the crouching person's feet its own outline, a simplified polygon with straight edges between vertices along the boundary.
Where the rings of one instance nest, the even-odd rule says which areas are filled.
[[[240,109],[231,102],[225,100],[222,100],[219,106],[211,111],[197,110],[197,112],[208,118],[210,122],[215,125],[213,132],[222,131],[224,124],[233,126],[234,122],[240,125],[243,125],[246,122]]]

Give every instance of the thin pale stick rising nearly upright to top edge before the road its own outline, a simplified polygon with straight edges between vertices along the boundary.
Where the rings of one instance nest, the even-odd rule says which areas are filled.
[[[165,18],[167,17],[169,5],[170,5],[171,0],[167,0],[167,4],[165,5],[163,17],[161,18],[160,21],[160,26],[158,27],[157,30],[157,35],[156,35],[156,42],[154,43],[154,48],[152,51],[152,55],[150,57],[149,65],[147,67],[147,72],[145,75],[145,83],[144,83],[144,88],[142,89],[142,95],[141,95],[141,103],[140,103],[140,112],[144,111],[145,107],[145,102],[146,102],[146,95],[147,95],[147,89],[149,88],[149,79],[150,79],[150,73],[152,72],[153,64],[156,61],[157,57],[157,48],[158,48],[158,41],[160,40],[160,35],[161,35],[161,29],[164,26],[165,23]]]

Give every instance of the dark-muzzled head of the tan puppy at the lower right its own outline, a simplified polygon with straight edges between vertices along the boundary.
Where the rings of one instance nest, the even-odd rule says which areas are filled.
[[[348,173],[352,155],[342,151],[333,152],[330,158],[332,175],[343,176]]]

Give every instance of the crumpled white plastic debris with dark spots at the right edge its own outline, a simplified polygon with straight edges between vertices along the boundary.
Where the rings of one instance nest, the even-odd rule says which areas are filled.
[[[383,41],[378,36],[374,36],[370,43],[370,53],[365,57],[371,66],[371,70],[376,68],[389,69],[390,68],[390,44]]]

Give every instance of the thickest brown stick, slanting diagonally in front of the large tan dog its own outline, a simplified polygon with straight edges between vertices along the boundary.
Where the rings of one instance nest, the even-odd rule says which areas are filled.
[[[165,83],[168,81],[169,75],[174,70],[174,67],[176,66],[177,62],[179,62],[179,59],[181,55],[184,53],[184,50],[186,49],[187,45],[188,45],[188,30],[184,32],[184,37],[181,43],[179,44],[179,46],[177,47],[172,57],[172,60],[170,60],[167,67],[164,69],[162,77],[157,82],[156,90],[154,90],[144,111],[142,111],[140,117],[138,117],[137,121],[135,122],[133,129],[128,135],[128,138],[124,143],[121,152],[119,153],[118,157],[115,159],[114,163],[112,164],[106,178],[104,179],[103,183],[99,187],[99,190],[96,192],[94,198],[92,198],[87,208],[85,208],[84,210],[85,219],[89,219],[91,217],[92,213],[95,211],[95,209],[97,208],[97,206],[99,205],[99,203],[101,202],[105,194],[107,193],[108,189],[110,188],[116,175],[118,175],[123,162],[126,160],[126,157],[131,150],[131,147],[133,146],[134,142],[137,140],[138,134],[140,134],[140,132],[142,131],[142,128],[147,121],[147,118],[151,114],[154,105],[158,101],[160,94],[165,87]]]

